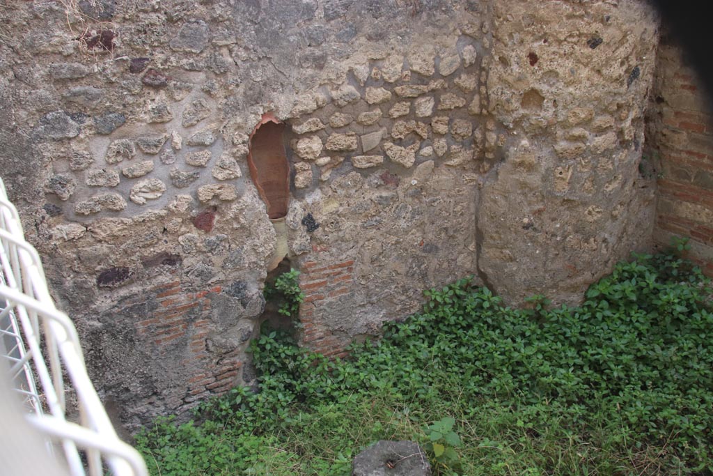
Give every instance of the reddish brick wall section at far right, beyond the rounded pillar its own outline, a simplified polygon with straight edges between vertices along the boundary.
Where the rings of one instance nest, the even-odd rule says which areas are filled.
[[[654,239],[689,237],[689,258],[713,275],[713,122],[693,65],[670,36],[658,49],[645,173],[657,176]]]

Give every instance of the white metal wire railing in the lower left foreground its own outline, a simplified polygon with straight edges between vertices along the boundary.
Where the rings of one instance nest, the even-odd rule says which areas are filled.
[[[37,251],[26,242],[0,178],[0,358],[21,396],[26,420],[58,442],[72,476],[145,476],[139,453],[119,440],[84,365],[73,323],[57,310]],[[78,422],[68,419],[66,396],[76,397]]]

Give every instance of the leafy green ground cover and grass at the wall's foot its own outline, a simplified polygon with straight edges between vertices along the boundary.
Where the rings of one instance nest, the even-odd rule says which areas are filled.
[[[461,279],[348,360],[266,330],[258,393],[160,420],[138,446],[164,476],[346,476],[363,447],[404,438],[438,475],[711,474],[706,283],[680,255],[636,255],[578,308],[518,310]]]

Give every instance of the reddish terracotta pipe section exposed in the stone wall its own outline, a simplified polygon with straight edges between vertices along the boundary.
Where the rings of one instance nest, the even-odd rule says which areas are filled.
[[[270,219],[287,216],[289,163],[284,148],[284,123],[270,113],[262,116],[250,136],[247,163]]]

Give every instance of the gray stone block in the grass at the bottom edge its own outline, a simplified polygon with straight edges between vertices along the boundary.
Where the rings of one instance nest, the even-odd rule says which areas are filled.
[[[431,476],[426,453],[413,441],[381,440],[356,455],[352,476]]]

